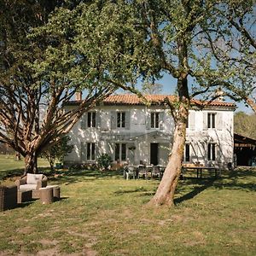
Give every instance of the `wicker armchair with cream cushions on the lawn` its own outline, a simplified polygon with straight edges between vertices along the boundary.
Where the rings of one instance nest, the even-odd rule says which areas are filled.
[[[16,180],[18,191],[32,190],[32,198],[39,198],[39,189],[47,186],[47,177],[44,174],[27,173],[25,176]]]

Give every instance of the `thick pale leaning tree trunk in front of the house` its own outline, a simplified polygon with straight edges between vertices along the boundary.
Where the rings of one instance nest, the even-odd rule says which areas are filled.
[[[149,202],[150,205],[173,205],[174,192],[181,174],[183,148],[186,139],[186,120],[188,117],[188,112],[183,106],[178,111],[180,112],[180,117],[177,119],[175,126],[172,152],[169,155],[168,164],[160,185],[154,197]]]

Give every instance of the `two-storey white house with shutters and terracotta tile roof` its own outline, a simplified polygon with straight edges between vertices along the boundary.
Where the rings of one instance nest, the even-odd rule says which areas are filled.
[[[135,95],[109,96],[100,106],[84,113],[70,131],[74,149],[66,162],[95,162],[100,154],[113,161],[166,165],[172,148],[174,121],[163,95],[147,96],[145,106]],[[172,96],[169,96],[172,98]],[[233,113],[235,105],[211,102],[199,108],[194,101],[184,150],[184,163],[227,166],[233,162]],[[73,108],[76,101],[66,108]]]

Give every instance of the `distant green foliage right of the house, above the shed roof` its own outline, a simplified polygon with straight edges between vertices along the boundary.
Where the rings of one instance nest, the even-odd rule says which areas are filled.
[[[244,112],[235,113],[234,131],[246,137],[256,139],[256,115],[255,113],[247,114]]]

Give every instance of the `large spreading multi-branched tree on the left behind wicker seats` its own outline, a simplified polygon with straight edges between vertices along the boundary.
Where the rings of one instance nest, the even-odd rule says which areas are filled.
[[[93,11],[102,9],[102,4],[92,3],[72,11],[77,3],[1,2],[0,142],[25,158],[25,172],[38,172],[38,155],[67,134],[85,111],[119,86],[134,90],[137,70],[128,70],[131,64],[125,52],[135,55],[132,45],[141,45],[137,40],[143,40],[143,34],[130,37],[129,44],[116,44],[118,50],[103,48],[115,44],[112,30],[119,43],[129,30],[117,31],[114,23],[105,34],[96,30],[101,20]],[[60,7],[58,14],[52,13],[55,7]],[[83,23],[76,18],[81,11]],[[110,9],[103,12],[111,15]],[[124,66],[126,73],[120,72]],[[65,111],[63,105],[82,90],[78,106]]]

